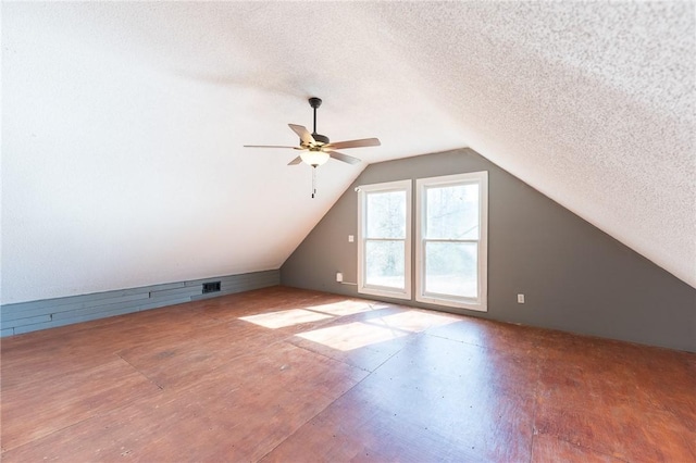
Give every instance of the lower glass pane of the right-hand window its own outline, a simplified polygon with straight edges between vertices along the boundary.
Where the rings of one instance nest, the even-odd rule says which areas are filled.
[[[425,242],[425,292],[476,298],[475,242]]]

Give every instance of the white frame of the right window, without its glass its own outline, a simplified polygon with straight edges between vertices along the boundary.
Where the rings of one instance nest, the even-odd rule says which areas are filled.
[[[478,185],[478,267],[477,298],[435,295],[425,292],[425,189],[433,186]],[[446,175],[442,177],[419,178],[415,182],[415,300],[419,302],[468,309],[480,312],[488,311],[488,172]],[[463,240],[469,241],[469,240]],[[459,240],[458,240],[459,242]]]

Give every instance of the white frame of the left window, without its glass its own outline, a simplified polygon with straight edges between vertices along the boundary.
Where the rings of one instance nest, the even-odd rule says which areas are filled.
[[[396,299],[411,299],[411,187],[412,182],[399,180],[358,187],[358,292]],[[373,192],[406,192],[406,239],[403,240],[403,289],[365,284],[365,201]]]

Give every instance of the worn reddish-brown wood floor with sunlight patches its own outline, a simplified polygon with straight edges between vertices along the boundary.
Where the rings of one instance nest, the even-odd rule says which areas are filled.
[[[3,462],[696,461],[696,354],[334,295],[1,348]]]

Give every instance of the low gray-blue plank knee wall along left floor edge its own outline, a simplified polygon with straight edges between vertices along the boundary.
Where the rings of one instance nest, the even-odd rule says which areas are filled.
[[[220,291],[203,293],[203,283],[212,281],[220,281]],[[0,305],[0,337],[216,298],[279,284],[281,271],[272,270],[4,304]]]

